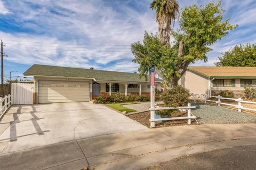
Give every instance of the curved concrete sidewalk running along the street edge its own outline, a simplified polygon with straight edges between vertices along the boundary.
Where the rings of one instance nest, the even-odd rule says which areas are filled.
[[[140,169],[198,152],[256,144],[256,124],[190,125],[74,140],[0,155],[1,169]]]

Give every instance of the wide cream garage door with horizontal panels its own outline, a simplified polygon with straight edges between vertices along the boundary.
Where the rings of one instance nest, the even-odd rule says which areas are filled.
[[[89,92],[89,82],[40,80],[38,85],[39,103],[89,101]]]

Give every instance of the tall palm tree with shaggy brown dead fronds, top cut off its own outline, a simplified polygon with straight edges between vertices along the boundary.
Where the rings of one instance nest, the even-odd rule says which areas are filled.
[[[179,17],[179,4],[176,0],[154,0],[151,10],[156,10],[158,34],[163,45],[170,45],[171,24]]]

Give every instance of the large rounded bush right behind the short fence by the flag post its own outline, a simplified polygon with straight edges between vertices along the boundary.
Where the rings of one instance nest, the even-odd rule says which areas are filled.
[[[189,96],[189,90],[178,85],[163,93],[162,100],[166,107],[187,106]]]

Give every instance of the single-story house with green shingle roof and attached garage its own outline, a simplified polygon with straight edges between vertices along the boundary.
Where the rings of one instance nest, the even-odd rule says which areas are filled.
[[[150,76],[146,80],[130,72],[34,64],[23,75],[34,78],[34,103],[92,101],[101,93],[150,93]],[[162,80],[155,82],[161,90]]]

